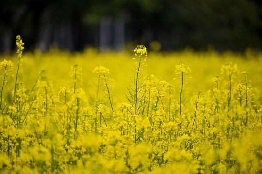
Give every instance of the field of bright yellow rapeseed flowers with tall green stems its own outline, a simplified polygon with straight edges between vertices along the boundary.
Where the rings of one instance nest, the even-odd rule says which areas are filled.
[[[261,53],[23,54],[16,39],[0,173],[262,173]]]

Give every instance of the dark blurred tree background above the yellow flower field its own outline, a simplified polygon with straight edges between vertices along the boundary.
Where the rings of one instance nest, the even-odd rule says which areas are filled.
[[[261,0],[0,0],[0,53],[50,47],[244,51],[262,47]]]

